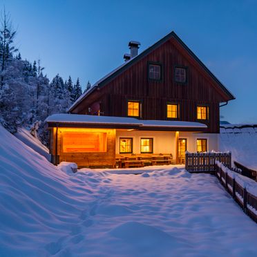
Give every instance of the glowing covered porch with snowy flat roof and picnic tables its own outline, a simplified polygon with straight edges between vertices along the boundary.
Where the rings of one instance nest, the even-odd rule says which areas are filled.
[[[184,164],[196,137],[208,135],[198,122],[73,114],[52,115],[47,122],[52,162],[90,168]]]

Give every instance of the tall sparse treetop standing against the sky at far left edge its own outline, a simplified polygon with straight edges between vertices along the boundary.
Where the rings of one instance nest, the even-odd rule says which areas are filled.
[[[12,21],[10,20],[10,14],[6,14],[6,10],[3,9],[1,15],[1,27],[0,27],[0,58],[1,58],[1,87],[3,86],[4,70],[12,54],[17,52],[17,48],[13,46],[16,30],[12,28]]]

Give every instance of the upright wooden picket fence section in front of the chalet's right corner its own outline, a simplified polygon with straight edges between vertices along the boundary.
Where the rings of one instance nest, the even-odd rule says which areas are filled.
[[[216,161],[224,163],[231,167],[231,152],[205,152],[205,153],[189,153],[186,152],[186,169],[189,172],[209,172],[216,171]]]

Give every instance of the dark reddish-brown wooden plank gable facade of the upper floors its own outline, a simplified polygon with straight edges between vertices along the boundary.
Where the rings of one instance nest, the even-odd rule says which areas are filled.
[[[169,36],[169,37],[168,37]],[[175,33],[128,61],[99,82],[91,93],[77,102],[70,113],[127,116],[128,100],[140,101],[142,120],[168,120],[166,104],[178,103],[177,120],[207,124],[207,133],[219,133],[220,103],[234,96],[218,82]],[[160,64],[161,79],[149,79],[149,63]],[[175,67],[187,68],[187,82],[175,82]],[[196,106],[209,107],[209,119],[198,120]]]

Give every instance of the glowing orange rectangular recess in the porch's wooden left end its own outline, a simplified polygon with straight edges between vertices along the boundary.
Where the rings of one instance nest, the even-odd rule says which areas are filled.
[[[62,150],[64,153],[106,152],[107,133],[64,132]]]

